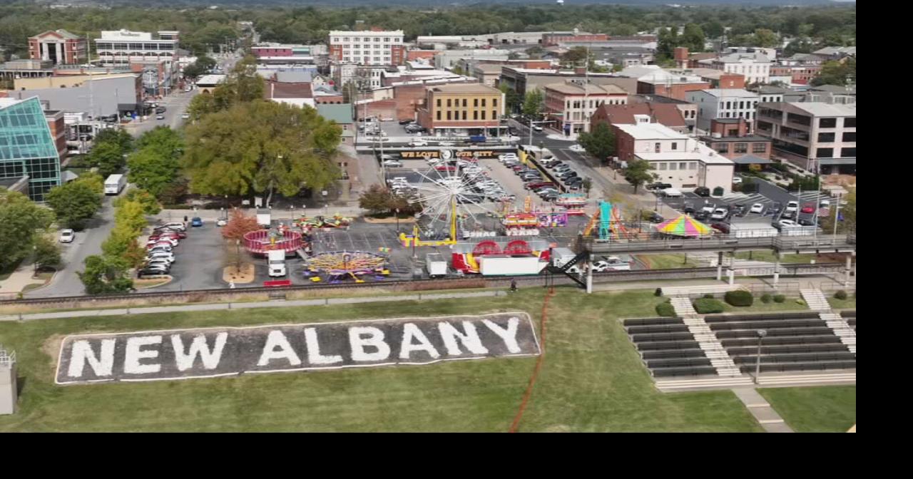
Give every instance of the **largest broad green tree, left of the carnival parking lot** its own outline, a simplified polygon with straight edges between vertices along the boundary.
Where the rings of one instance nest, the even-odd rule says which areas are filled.
[[[187,129],[184,166],[194,193],[268,193],[270,202],[274,190],[289,197],[336,181],[340,138],[340,127],[310,107],[240,103]]]

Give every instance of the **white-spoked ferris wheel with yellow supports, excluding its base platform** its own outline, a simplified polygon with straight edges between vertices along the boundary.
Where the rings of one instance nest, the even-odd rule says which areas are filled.
[[[479,190],[481,173],[449,165],[413,172],[421,177],[421,182],[413,184],[419,194],[410,200],[422,210],[415,215],[421,237],[457,240],[461,232],[483,227],[479,215],[497,214],[485,204],[485,191]]]

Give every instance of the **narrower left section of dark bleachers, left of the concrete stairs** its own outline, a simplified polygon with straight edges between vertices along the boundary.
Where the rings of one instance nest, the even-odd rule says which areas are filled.
[[[682,318],[635,318],[624,328],[655,377],[716,374]]]

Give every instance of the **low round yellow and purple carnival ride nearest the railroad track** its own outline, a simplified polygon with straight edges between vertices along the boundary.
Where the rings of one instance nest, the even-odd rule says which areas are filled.
[[[320,275],[327,277],[329,283],[339,283],[353,279],[363,283],[363,276],[383,279],[390,276],[387,268],[389,258],[385,255],[364,251],[331,251],[313,255],[305,262],[304,275],[311,282],[320,282]]]

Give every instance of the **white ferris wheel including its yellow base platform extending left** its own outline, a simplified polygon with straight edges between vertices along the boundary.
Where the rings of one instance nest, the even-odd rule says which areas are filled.
[[[485,195],[474,190],[461,169],[414,172],[422,182],[414,183],[419,195],[410,203],[422,211],[415,215],[412,234],[400,234],[404,247],[454,245],[459,238],[477,236],[484,230],[477,214],[497,214],[482,204]]]

